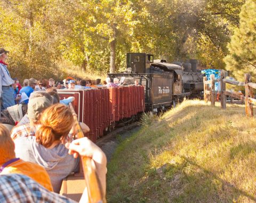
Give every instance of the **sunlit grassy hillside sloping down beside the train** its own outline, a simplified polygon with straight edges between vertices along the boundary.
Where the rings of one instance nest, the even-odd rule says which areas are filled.
[[[255,202],[256,122],[187,100],[148,119],[108,164],[109,202]]]

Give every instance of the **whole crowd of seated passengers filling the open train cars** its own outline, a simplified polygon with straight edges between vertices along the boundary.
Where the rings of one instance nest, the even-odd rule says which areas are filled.
[[[60,100],[57,89],[109,88],[128,85],[115,78],[95,81],[69,78],[23,81],[13,79],[14,103],[21,106],[19,122],[10,116],[10,107],[2,106],[0,117],[0,202],[73,202],[60,196],[62,180],[79,169],[81,156],[91,157],[106,192],[107,159],[90,139],[74,140],[73,114],[68,104],[74,97]],[[130,85],[139,85],[135,81]],[[12,106],[11,106],[12,107]],[[19,114],[20,116],[20,114]],[[80,123],[84,133],[90,131]],[[13,186],[15,185],[15,187]],[[20,191],[17,193],[16,191]],[[81,202],[87,201],[87,190]],[[10,197],[10,193],[13,192]]]

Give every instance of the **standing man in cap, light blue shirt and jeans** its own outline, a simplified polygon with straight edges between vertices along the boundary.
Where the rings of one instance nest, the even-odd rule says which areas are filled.
[[[7,59],[7,53],[9,51],[0,48],[0,97],[2,106],[6,109],[7,107],[15,105],[14,94],[12,83],[13,80],[7,69],[7,64],[5,63]]]

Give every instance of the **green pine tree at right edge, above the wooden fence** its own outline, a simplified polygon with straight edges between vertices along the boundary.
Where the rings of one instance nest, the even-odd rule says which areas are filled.
[[[244,73],[256,76],[256,1],[247,0],[240,13],[240,25],[235,29],[225,58],[227,70],[236,79],[244,80]]]

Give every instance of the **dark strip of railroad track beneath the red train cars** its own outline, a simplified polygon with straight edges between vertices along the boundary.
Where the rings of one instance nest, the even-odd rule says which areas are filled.
[[[98,139],[96,141],[96,145],[98,145],[100,148],[102,148],[103,145],[105,145],[106,142],[113,141],[116,139],[116,136],[119,134],[125,133],[129,130],[132,130],[133,128],[140,126],[138,122],[131,123],[129,125],[125,125],[121,128],[117,128],[112,132],[109,132],[106,136],[103,136],[102,138]]]

